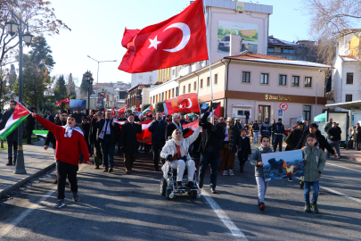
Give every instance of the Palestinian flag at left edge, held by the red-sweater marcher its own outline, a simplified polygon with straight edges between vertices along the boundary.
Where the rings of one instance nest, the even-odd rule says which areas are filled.
[[[15,108],[12,107],[4,112],[0,120],[0,138],[4,140],[9,136],[28,117],[29,113],[29,110],[19,103],[16,103]]]

